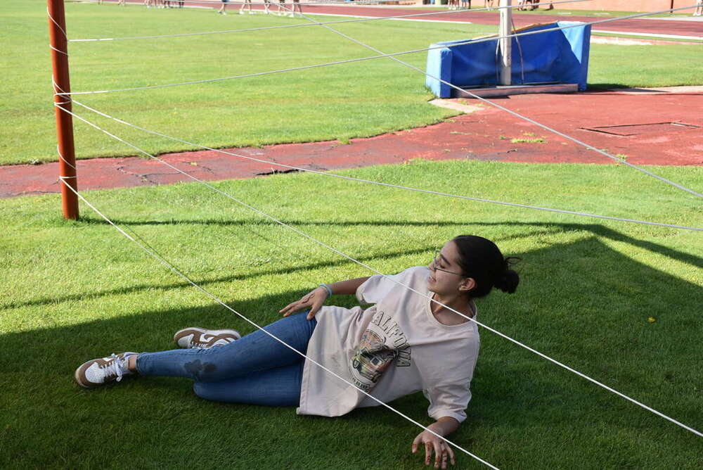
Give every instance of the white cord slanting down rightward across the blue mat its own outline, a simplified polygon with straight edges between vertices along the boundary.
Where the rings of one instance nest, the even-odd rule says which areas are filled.
[[[284,7],[284,8],[285,8],[285,7]],[[691,7],[681,7],[681,8],[691,8]],[[656,14],[656,13],[665,13],[665,12],[667,12],[667,11],[673,11],[673,10],[674,10],[674,9],[662,10],[662,11],[654,12],[654,13],[652,13],[652,14]],[[311,22],[316,23],[315,20],[313,20],[313,19],[311,19],[311,18],[308,18],[307,16],[303,15],[302,13],[299,13],[299,14],[300,14],[303,18],[305,18],[306,20],[309,20],[309,21],[311,21]],[[352,42],[354,42],[354,43],[356,43],[356,44],[359,44],[360,46],[366,47],[366,49],[370,49],[371,51],[374,51],[375,53],[378,53],[378,54],[382,54],[382,53],[383,53],[382,51],[376,49],[376,48],[373,47],[373,46],[370,46],[370,45],[365,44],[365,43],[363,43],[363,42],[361,42],[361,41],[359,41],[359,40],[357,40],[357,39],[354,39],[353,37],[351,37],[351,36],[349,36],[349,35],[347,35],[347,34],[344,34],[344,33],[341,32],[341,31],[335,30],[333,27],[329,27],[329,26],[326,26],[326,25],[321,25],[321,26],[324,27],[324,28],[327,29],[327,30],[330,30],[330,31],[334,32],[335,34],[339,34],[340,36],[342,36],[342,37],[344,37],[344,38],[346,38],[346,39],[349,39],[349,41],[352,41]],[[544,31],[548,31],[548,30],[543,30],[543,32],[544,32]],[[649,175],[650,177],[659,179],[659,181],[662,181],[662,182],[664,182],[664,183],[666,183],[666,184],[670,184],[671,186],[674,186],[674,187],[676,187],[676,188],[678,188],[678,189],[681,189],[682,191],[686,191],[686,192],[688,192],[688,193],[693,194],[694,196],[698,196],[699,198],[702,198],[702,199],[703,199],[703,194],[697,193],[696,191],[693,191],[692,189],[688,189],[688,188],[686,188],[685,186],[682,186],[681,184],[678,184],[678,183],[675,183],[675,182],[671,181],[670,179],[666,179],[666,178],[664,178],[664,177],[659,176],[658,174],[654,174],[654,173],[650,172],[649,170],[645,170],[645,169],[642,168],[642,167],[638,167],[637,165],[633,165],[632,163],[629,163],[628,161],[623,160],[622,158],[618,158],[618,157],[616,157],[615,155],[610,155],[610,153],[607,153],[607,152],[605,152],[605,151],[602,151],[602,150],[600,150],[600,148],[595,148],[594,146],[592,146],[592,145],[590,145],[590,144],[586,144],[585,142],[580,141],[579,139],[576,139],[576,137],[569,136],[569,135],[567,135],[567,134],[564,134],[563,132],[559,132],[559,131],[557,131],[556,129],[553,129],[552,127],[549,127],[549,126],[547,126],[547,125],[543,125],[543,124],[537,122],[537,121],[534,120],[534,119],[528,118],[527,116],[524,116],[524,115],[522,115],[522,114],[520,114],[520,113],[516,113],[516,112],[513,111],[513,110],[510,110],[510,109],[508,109],[508,108],[505,108],[505,106],[501,106],[501,105],[499,105],[498,103],[494,103],[493,101],[489,101],[489,100],[483,98],[482,96],[478,96],[477,94],[472,93],[471,91],[467,91],[467,90],[465,90],[465,89],[462,89],[462,88],[460,88],[460,87],[457,87],[455,84],[451,84],[451,83],[447,82],[446,80],[442,80],[442,79],[439,78],[439,77],[434,77],[434,75],[430,75],[429,73],[425,72],[424,70],[415,67],[415,65],[411,65],[411,64],[409,64],[409,63],[407,63],[407,62],[401,61],[399,58],[390,57],[390,56],[389,56],[389,58],[391,58],[393,61],[396,61],[396,62],[400,63],[401,65],[405,65],[406,67],[411,68],[412,70],[416,70],[417,72],[420,72],[421,74],[423,74],[423,75],[425,75],[425,76],[427,76],[427,77],[430,77],[430,78],[432,78],[433,80],[437,80],[437,81],[439,81],[439,82],[441,82],[441,83],[444,83],[444,84],[446,84],[446,85],[449,85],[449,87],[452,87],[453,89],[456,89],[456,90],[458,90],[458,91],[460,91],[460,92],[469,94],[472,98],[475,98],[475,99],[478,99],[478,100],[480,100],[480,101],[483,101],[484,103],[487,103],[487,104],[489,104],[489,105],[491,105],[491,106],[494,106],[494,108],[498,108],[498,109],[500,109],[500,110],[503,110],[503,111],[505,111],[505,112],[507,112],[507,113],[510,113],[510,114],[516,116],[517,118],[526,120],[527,122],[531,122],[532,124],[534,124],[534,125],[536,125],[536,126],[538,126],[538,127],[541,127],[542,129],[545,129],[545,130],[548,131],[548,132],[553,132],[554,134],[557,134],[558,136],[562,136],[562,137],[564,137],[565,139],[568,139],[568,140],[570,140],[570,141],[572,141],[572,142],[575,142],[576,144],[579,144],[579,145],[581,145],[581,146],[583,146],[583,147],[588,148],[589,150],[592,150],[592,151],[595,151],[595,152],[597,152],[597,153],[600,153],[601,155],[604,155],[604,156],[606,156],[606,157],[608,157],[608,158],[612,158],[612,160],[615,160],[615,161],[617,161],[617,162],[619,162],[619,163],[621,163],[621,164],[623,164],[623,165],[627,165],[628,167],[631,167],[631,168],[633,168],[633,169],[635,169],[635,170],[638,170],[638,171],[640,171],[640,172],[643,172],[644,174],[647,174],[647,175]]]

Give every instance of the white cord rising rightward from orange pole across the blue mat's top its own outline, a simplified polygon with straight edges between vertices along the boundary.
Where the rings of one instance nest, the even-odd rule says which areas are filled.
[[[585,23],[585,25],[597,25],[600,23],[608,23],[608,22],[617,21],[617,20],[628,20],[630,18],[640,18],[640,17],[647,16],[647,15],[656,15],[657,13],[666,13],[668,11],[685,10],[685,9],[690,9],[690,8],[694,8],[694,7],[695,7],[695,5],[694,6],[681,6],[678,8],[671,8],[669,10],[663,10],[663,11],[636,13],[634,15],[621,16],[619,18],[605,18],[604,20],[596,20],[596,21],[592,21],[591,23]],[[313,21],[315,25],[323,25],[324,24],[324,23],[316,22],[314,20],[311,20],[311,21]],[[131,88],[119,88],[119,89],[110,89],[110,90],[94,90],[94,91],[71,91],[70,94],[71,95],[86,95],[86,94],[115,93],[118,91],[150,90],[150,89],[167,88],[167,87],[179,87],[181,85],[222,82],[224,80],[236,80],[236,79],[240,79],[240,78],[260,77],[262,75],[272,75],[272,74],[284,73],[284,72],[295,72],[297,70],[308,70],[311,68],[328,67],[330,65],[340,65],[340,64],[344,64],[344,63],[371,61],[374,59],[384,58],[384,57],[404,56],[404,55],[411,54],[411,53],[433,51],[434,49],[445,49],[445,48],[451,49],[452,47],[462,46],[464,44],[470,44],[470,43],[477,44],[479,42],[494,41],[496,39],[507,39],[509,37],[529,36],[531,34],[541,34],[543,32],[550,32],[550,31],[557,31],[557,30],[568,30],[572,27],[582,27],[583,25],[584,24],[567,25],[567,26],[548,28],[546,30],[527,31],[527,32],[514,33],[514,34],[507,34],[505,36],[482,37],[479,39],[469,39],[464,42],[458,42],[456,44],[445,45],[445,46],[423,47],[421,49],[412,49],[410,51],[393,52],[393,53],[381,54],[378,56],[368,56],[368,57],[361,57],[361,58],[355,58],[355,59],[347,59],[347,60],[343,60],[343,61],[319,63],[319,64],[314,64],[314,65],[304,65],[302,67],[292,67],[292,68],[285,68],[285,69],[280,69],[280,70],[271,70],[269,72],[256,72],[256,73],[250,73],[250,74],[246,74],[246,75],[234,75],[232,77],[211,78],[211,79],[206,79],[206,80],[192,80],[190,82],[168,83],[168,84],[161,84],[161,85],[149,85],[146,87],[131,87]],[[423,73],[425,73],[425,72],[423,72]],[[67,93],[59,93],[59,94],[67,94]]]

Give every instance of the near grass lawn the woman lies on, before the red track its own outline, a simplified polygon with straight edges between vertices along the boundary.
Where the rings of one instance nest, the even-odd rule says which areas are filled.
[[[701,167],[652,170],[697,189]],[[366,167],[366,179],[645,220],[703,225],[699,200],[617,165],[472,160]],[[431,183],[428,183],[431,181]],[[703,428],[699,232],[581,219],[313,174],[215,183],[382,272],[423,265],[458,234],[523,258],[517,293],[479,321]],[[698,187],[697,187],[698,186]],[[263,324],[319,282],[369,273],[198,184],[84,196],[191,279]],[[373,203],[369,203],[373,201]],[[220,405],[185,379],[82,390],[79,364],[162,350],[184,326],[252,327],[58,196],[0,201],[0,467],[421,469],[418,433],[385,409],[339,419]],[[353,305],[352,298],[330,299]],[[654,322],[650,322],[650,317]],[[503,469],[699,469],[700,438],[482,331],[457,443]],[[429,424],[418,393],[393,403]],[[484,468],[465,455],[458,469]]]

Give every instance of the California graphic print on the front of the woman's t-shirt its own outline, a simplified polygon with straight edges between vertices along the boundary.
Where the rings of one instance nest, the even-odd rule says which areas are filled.
[[[396,367],[408,367],[409,346],[403,330],[391,316],[376,312],[349,360],[354,385],[361,390],[370,390],[393,360],[396,360]]]

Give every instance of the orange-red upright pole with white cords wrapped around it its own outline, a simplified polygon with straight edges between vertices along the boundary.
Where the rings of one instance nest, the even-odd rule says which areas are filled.
[[[69,111],[71,108],[71,82],[68,72],[68,38],[66,37],[66,15],[63,0],[46,0],[49,13],[49,44],[51,44],[51,65],[53,72],[53,102]],[[64,110],[56,111],[56,135],[58,137],[58,168],[61,186],[61,201],[65,219],[78,218],[78,191],[76,156],[73,144],[73,117]]]

